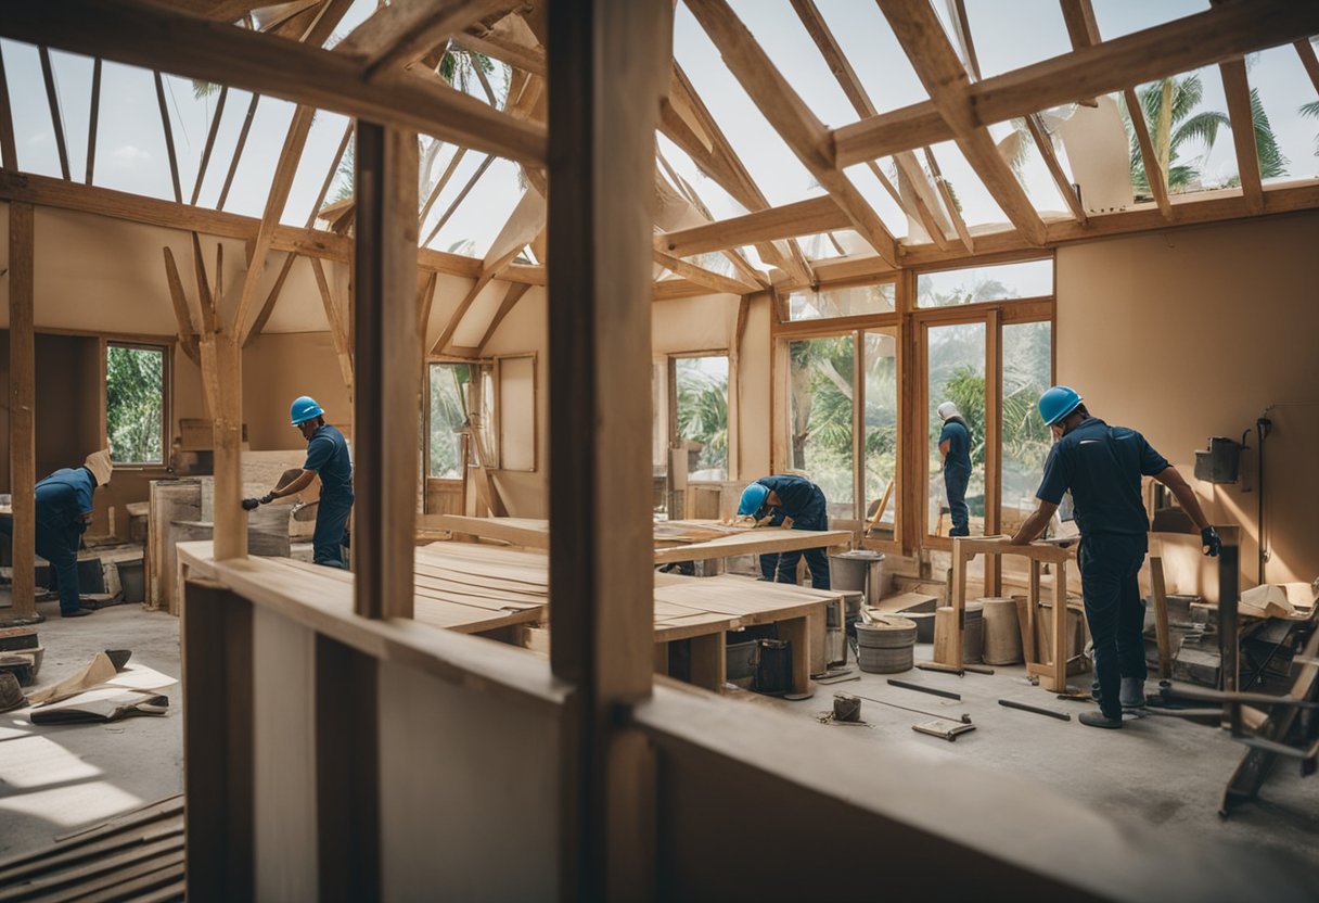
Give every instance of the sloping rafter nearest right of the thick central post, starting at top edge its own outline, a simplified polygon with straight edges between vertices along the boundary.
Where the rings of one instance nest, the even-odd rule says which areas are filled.
[[[797,158],[847,214],[852,227],[886,260],[897,243],[851,180],[834,166],[828,129],[778,71],[725,0],[690,0],[687,8],[724,63]]]

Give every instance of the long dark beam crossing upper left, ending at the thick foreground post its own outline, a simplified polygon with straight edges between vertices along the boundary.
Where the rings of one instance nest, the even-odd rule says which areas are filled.
[[[363,63],[347,54],[149,0],[65,0],[58,8],[45,0],[13,0],[0,20],[0,34],[388,121],[518,162],[545,158],[543,127],[435,81],[404,71],[367,82]]]

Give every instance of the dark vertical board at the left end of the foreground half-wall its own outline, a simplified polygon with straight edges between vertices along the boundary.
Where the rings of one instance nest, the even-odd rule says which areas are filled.
[[[252,899],[252,603],[214,581],[190,580],[183,593],[187,899]]]

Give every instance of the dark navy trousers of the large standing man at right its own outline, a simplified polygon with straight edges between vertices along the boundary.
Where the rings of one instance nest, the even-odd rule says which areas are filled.
[[[1136,581],[1145,561],[1144,533],[1093,533],[1080,543],[1080,585],[1095,643],[1099,706],[1122,717],[1122,677],[1145,680],[1145,603]]]

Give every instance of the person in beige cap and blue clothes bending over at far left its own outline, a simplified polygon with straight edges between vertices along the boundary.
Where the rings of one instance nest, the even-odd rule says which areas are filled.
[[[63,467],[37,483],[37,554],[54,572],[63,618],[92,613],[78,601],[78,547],[91,523],[92,492],[109,485],[113,469],[109,449],[102,449],[88,454],[82,467]],[[13,540],[12,515],[0,515],[0,535]]]

